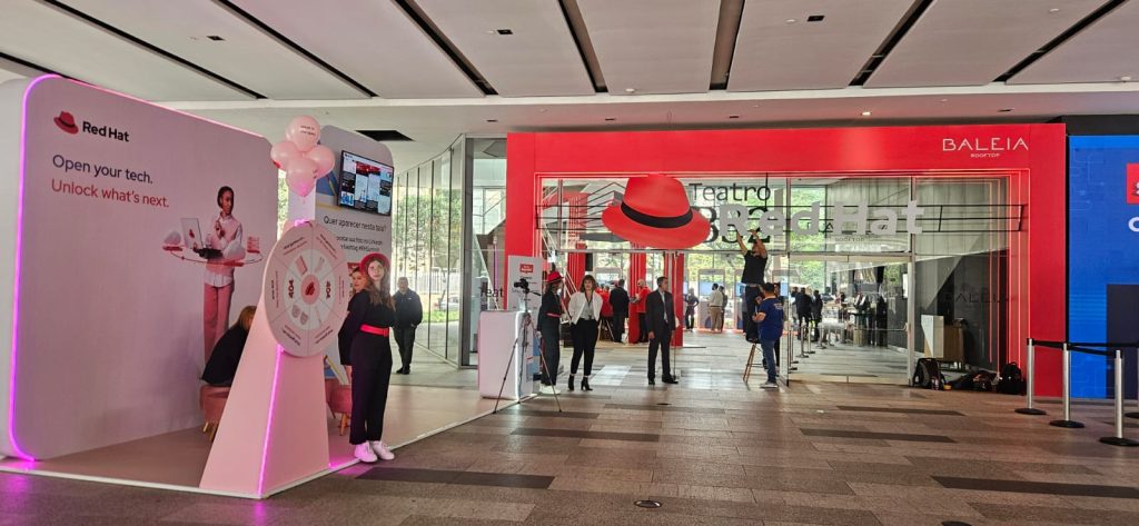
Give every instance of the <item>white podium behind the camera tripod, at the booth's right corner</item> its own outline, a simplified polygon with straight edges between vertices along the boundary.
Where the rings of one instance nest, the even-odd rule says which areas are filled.
[[[478,313],[478,394],[484,398],[498,398],[499,389],[502,400],[522,400],[534,394],[531,370],[538,338],[533,323],[523,331],[526,315],[522,311]]]

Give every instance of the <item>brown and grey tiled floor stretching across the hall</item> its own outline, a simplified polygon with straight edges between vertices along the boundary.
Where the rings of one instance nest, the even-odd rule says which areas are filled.
[[[762,391],[738,337],[694,340],[680,385],[646,385],[644,346],[606,350],[563,412],[542,396],[263,502],[0,475],[0,525],[1139,524],[1139,451],[1097,441],[1111,406],[1059,429],[1015,396]]]

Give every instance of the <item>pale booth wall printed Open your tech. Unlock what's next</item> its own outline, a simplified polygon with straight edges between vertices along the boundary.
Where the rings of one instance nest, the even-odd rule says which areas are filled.
[[[0,311],[18,320],[0,323],[0,454],[202,425],[205,355],[256,305],[276,237],[269,147],[57,76],[0,85]]]

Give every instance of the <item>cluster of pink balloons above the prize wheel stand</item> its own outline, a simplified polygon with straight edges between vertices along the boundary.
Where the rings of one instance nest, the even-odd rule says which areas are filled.
[[[293,117],[285,129],[285,140],[273,145],[269,157],[285,171],[285,183],[301,197],[317,187],[317,179],[333,170],[333,150],[320,141],[320,123],[308,115]]]

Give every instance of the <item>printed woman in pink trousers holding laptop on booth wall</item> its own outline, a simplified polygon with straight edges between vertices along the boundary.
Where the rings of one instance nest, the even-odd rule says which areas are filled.
[[[218,189],[218,207],[221,214],[214,219],[213,230],[205,237],[205,250],[199,255],[206,258],[205,286],[203,287],[203,340],[205,343],[205,361],[214,344],[229,328],[229,304],[233,298],[233,269],[227,264],[245,257],[245,245],[241,235],[241,222],[233,217],[233,189]]]

